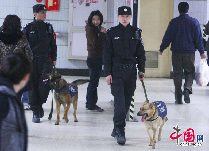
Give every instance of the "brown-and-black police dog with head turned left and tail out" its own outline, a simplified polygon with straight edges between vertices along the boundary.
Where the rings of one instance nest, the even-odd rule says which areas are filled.
[[[77,106],[78,106],[78,85],[89,82],[87,79],[78,79],[71,83],[68,83],[61,76],[48,75],[48,83],[50,87],[55,91],[54,98],[56,102],[56,111],[57,111],[57,120],[55,125],[59,125],[60,122],[60,106],[64,107],[64,116],[63,119],[68,123],[68,111],[70,105],[73,104],[74,112],[74,122],[78,122],[77,119]],[[49,117],[50,119],[50,117]]]

